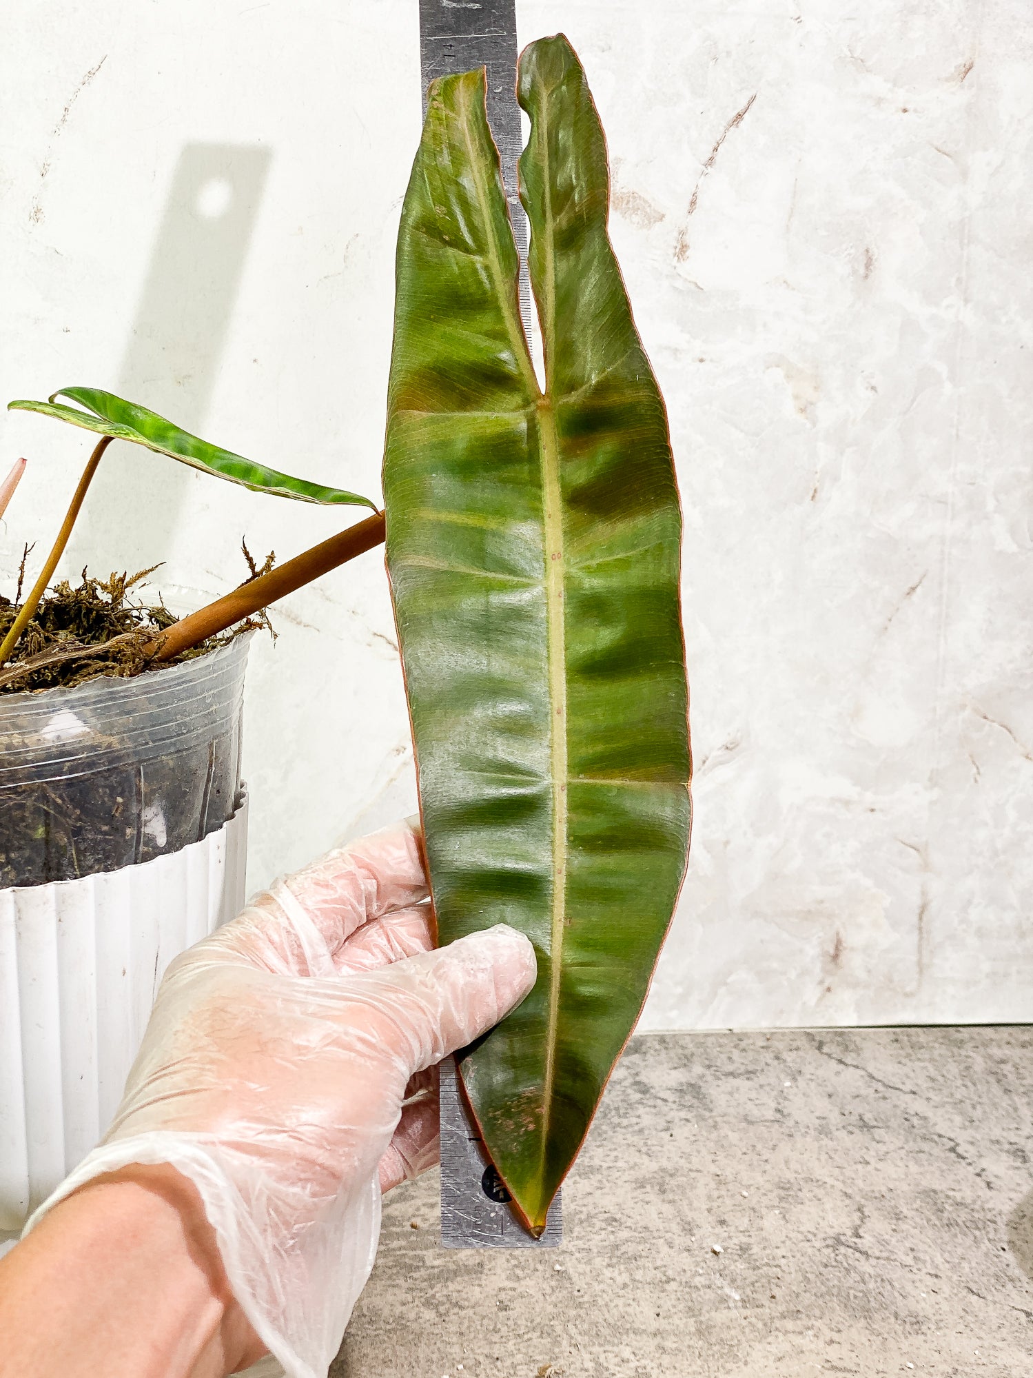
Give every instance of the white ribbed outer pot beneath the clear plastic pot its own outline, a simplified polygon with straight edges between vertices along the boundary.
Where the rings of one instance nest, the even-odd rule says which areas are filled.
[[[0,1232],[110,1124],[169,962],[245,898],[248,803],[140,865],[0,890]]]

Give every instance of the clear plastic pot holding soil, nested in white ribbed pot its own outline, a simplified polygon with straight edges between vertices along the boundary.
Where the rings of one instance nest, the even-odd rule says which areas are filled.
[[[220,828],[240,794],[249,641],[0,695],[0,887],[138,865]]]

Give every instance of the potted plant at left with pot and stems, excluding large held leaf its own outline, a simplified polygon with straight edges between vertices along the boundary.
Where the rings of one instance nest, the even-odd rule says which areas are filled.
[[[59,398],[67,401],[59,401]],[[69,402],[76,405],[69,405]],[[41,412],[99,441],[33,587],[0,597],[0,1229],[95,1142],[157,983],[244,900],[241,703],[264,606],[383,535],[376,504],[211,445],[96,389]],[[178,619],[135,576],[48,590],[113,440],[258,492],[373,517]],[[0,486],[10,503],[23,460]]]

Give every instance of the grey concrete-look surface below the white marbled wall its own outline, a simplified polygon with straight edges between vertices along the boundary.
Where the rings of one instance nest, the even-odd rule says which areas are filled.
[[[1032,1119],[1033,1028],[638,1038],[562,1248],[399,1188],[332,1375],[1030,1378]]]

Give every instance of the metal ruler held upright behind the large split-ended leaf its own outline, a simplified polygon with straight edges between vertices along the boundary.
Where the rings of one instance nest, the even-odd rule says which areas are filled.
[[[521,317],[530,339],[528,222],[516,194],[521,107],[516,103],[515,0],[420,0],[423,113],[434,77],[488,70],[488,123],[499,149],[510,219],[521,256]],[[460,1054],[461,1056],[461,1054]],[[441,1243],[445,1248],[550,1248],[563,1237],[559,1196],[541,1239],[534,1239],[510,1207],[510,1193],[492,1166],[481,1134],[467,1113],[456,1061],[441,1064]]]

